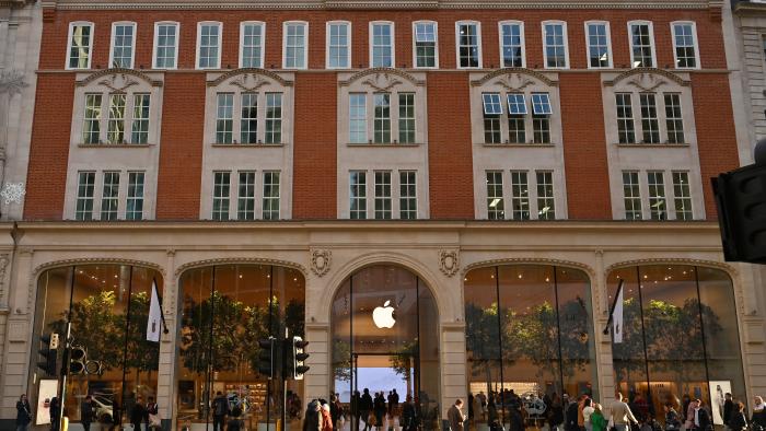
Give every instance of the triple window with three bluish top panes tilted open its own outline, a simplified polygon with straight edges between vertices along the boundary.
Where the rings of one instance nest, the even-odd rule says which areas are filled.
[[[553,107],[548,93],[483,93],[481,101],[485,143],[550,143]]]

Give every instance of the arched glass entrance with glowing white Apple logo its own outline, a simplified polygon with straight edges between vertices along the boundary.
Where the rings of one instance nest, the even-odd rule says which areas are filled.
[[[401,423],[402,406],[411,397],[421,426],[436,429],[441,411],[439,313],[417,275],[394,265],[353,272],[333,301],[332,328],[333,387],[341,403],[350,405],[357,391],[363,396],[367,389],[372,398],[382,393],[386,429]],[[359,419],[359,428],[364,427],[365,413],[351,416],[346,429],[356,431]]]

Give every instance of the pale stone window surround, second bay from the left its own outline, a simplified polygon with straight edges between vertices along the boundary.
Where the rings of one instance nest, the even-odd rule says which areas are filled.
[[[256,220],[260,219],[263,201],[263,172],[279,171],[279,217],[292,217],[292,136],[293,136],[293,82],[292,72],[271,72],[264,69],[236,69],[229,72],[208,72],[205,104],[205,145],[202,149],[202,175],[200,184],[199,218],[208,220],[212,214],[213,172],[232,173],[232,187],[239,182],[239,171],[255,171]],[[239,130],[240,113],[236,109],[240,94],[253,92],[263,95],[267,92],[282,93],[282,142],[264,143],[225,143],[216,141],[217,94],[234,93],[234,131]],[[258,137],[265,132],[264,97],[258,98]],[[236,135],[235,135],[236,136]],[[239,137],[237,137],[239,141]],[[263,141],[263,139],[262,139]],[[232,188],[232,196],[237,190]],[[232,200],[234,205],[235,199]],[[230,207],[231,209],[231,207]],[[236,211],[230,212],[236,219]]]

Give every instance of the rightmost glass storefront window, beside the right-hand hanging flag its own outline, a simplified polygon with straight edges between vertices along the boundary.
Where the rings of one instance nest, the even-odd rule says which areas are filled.
[[[663,420],[689,399],[711,407],[722,424],[724,394],[745,400],[734,290],[713,268],[648,265],[608,276],[610,301],[624,286],[623,342],[612,345],[615,384],[640,416]]]

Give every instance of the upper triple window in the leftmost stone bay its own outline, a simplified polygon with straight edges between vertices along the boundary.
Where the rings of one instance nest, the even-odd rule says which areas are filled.
[[[149,93],[85,93],[84,98],[82,143],[146,144],[149,142],[151,113]],[[106,115],[103,115],[104,110]]]

